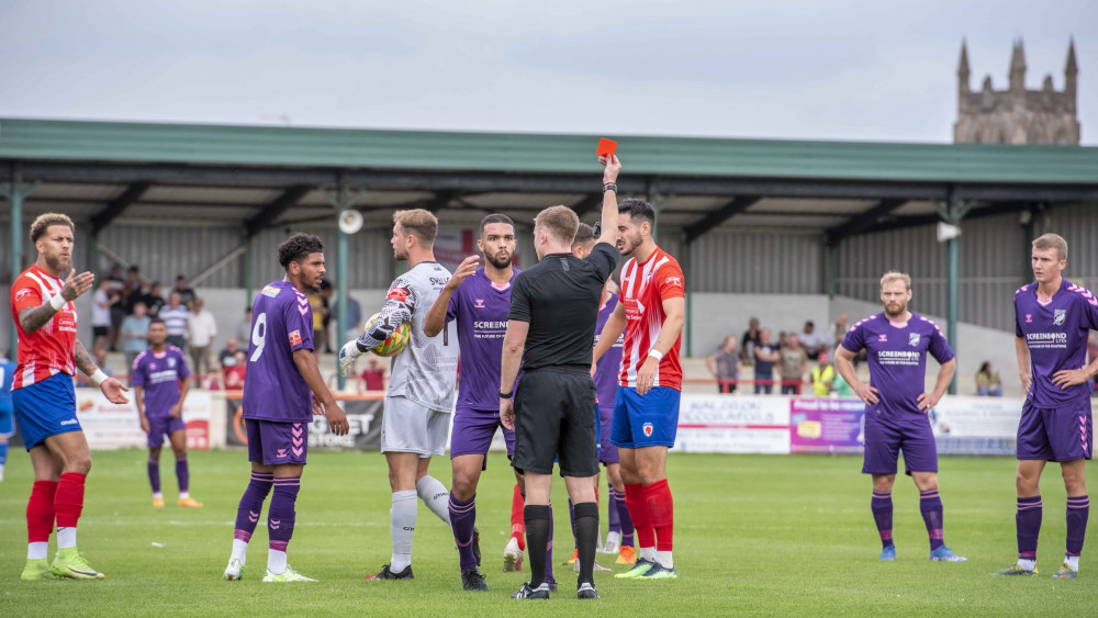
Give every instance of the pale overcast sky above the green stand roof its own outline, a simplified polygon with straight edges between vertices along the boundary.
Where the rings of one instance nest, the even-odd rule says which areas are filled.
[[[0,116],[950,142],[956,64],[1079,61],[1098,1],[0,1]]]

